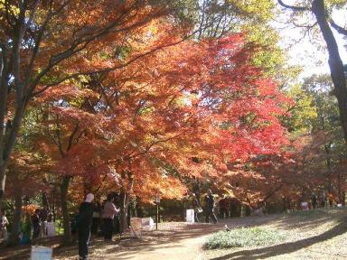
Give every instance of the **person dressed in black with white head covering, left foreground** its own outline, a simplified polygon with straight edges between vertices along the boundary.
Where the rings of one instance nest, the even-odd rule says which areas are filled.
[[[86,200],[80,204],[78,223],[80,260],[88,259],[88,244],[94,209],[94,205],[92,204],[93,200],[94,195],[89,193],[86,196]]]

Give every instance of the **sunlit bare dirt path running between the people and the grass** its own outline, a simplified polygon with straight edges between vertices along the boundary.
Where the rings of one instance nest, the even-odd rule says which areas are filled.
[[[159,231],[145,232],[139,239],[124,239],[119,245],[103,246],[92,250],[90,259],[117,260],[198,260],[202,257],[202,246],[211,233],[230,228],[253,226],[271,221],[276,215],[262,218],[233,218],[217,225],[177,223],[176,226],[159,227]]]

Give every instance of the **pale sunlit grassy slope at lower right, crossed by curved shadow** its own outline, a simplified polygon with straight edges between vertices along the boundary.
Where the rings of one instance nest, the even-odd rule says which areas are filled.
[[[271,246],[204,250],[202,259],[346,259],[346,215],[346,209],[297,211],[258,225],[278,234],[285,232],[285,241]]]

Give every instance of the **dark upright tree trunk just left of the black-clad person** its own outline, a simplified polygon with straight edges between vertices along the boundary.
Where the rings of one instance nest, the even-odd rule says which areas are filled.
[[[71,229],[70,229],[70,216],[68,209],[68,190],[70,184],[70,176],[64,176],[61,182],[61,213],[62,213],[62,226],[64,228],[63,240],[64,245],[69,245],[72,242]]]

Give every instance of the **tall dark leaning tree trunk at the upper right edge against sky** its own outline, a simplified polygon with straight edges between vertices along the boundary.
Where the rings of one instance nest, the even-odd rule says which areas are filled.
[[[333,36],[332,29],[326,20],[324,0],[314,0],[312,12],[319,28],[321,29],[326,47],[329,53],[329,67],[333,79],[334,94],[338,100],[340,121],[343,129],[344,140],[347,143],[347,89],[346,79],[343,72],[343,63],[339,54],[339,48]]]

